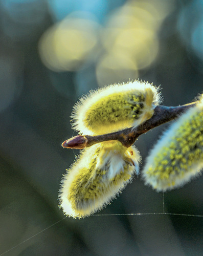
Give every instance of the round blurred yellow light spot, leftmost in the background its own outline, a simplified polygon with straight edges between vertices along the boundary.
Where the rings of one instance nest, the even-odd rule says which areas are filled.
[[[49,69],[74,71],[93,58],[97,48],[99,25],[93,20],[67,16],[49,28],[39,41],[40,57]]]

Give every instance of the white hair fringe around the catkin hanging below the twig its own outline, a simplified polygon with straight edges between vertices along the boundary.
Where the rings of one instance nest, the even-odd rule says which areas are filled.
[[[119,180],[117,184],[110,185],[110,183],[108,182],[109,181],[108,173],[111,172],[110,176],[112,174],[114,175],[118,174],[119,172],[121,172],[121,169],[123,169],[121,165],[125,164],[125,162],[122,159],[122,156],[120,158],[116,157],[115,160],[120,161],[120,163],[117,164],[116,169],[112,169],[112,170],[109,170],[109,172],[107,172],[106,182],[105,180],[102,181],[102,182],[105,182],[106,187],[104,192],[101,194],[101,196],[99,196],[97,199],[94,199],[94,200],[87,200],[87,201],[80,202],[77,210],[74,210],[71,206],[71,203],[67,199],[67,195],[69,195],[69,188],[71,187],[71,184],[74,181],[74,178],[76,177],[76,175],[80,172],[80,169],[84,166],[89,166],[89,160],[91,156],[94,155],[97,148],[100,146],[99,144],[93,145],[89,148],[85,148],[85,150],[83,150],[83,152],[80,155],[79,161],[76,161],[76,163],[72,165],[70,171],[67,172],[63,177],[60,194],[59,194],[59,200],[61,202],[60,207],[63,208],[63,211],[67,216],[71,216],[73,218],[84,218],[102,209],[119,195],[119,193],[124,189],[126,184],[132,180],[133,174],[138,173],[137,167],[138,167],[138,161],[140,161],[140,155],[139,155],[139,152],[136,150],[136,148],[133,147],[132,148],[134,152],[133,162],[135,162],[136,164],[135,165],[129,164],[129,168],[127,170],[127,172],[131,175],[131,178],[129,178],[129,180],[127,181]],[[114,161],[111,162],[110,165],[115,163]],[[109,166],[109,164],[107,165]],[[113,168],[113,167],[111,166],[110,168]]]

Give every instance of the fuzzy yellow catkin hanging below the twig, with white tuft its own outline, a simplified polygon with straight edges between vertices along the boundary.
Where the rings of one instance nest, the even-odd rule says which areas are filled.
[[[62,179],[59,200],[64,214],[84,218],[102,209],[139,172],[135,147],[108,141],[85,148]]]

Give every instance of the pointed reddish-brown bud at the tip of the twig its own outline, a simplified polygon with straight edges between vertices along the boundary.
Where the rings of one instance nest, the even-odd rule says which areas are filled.
[[[61,146],[67,148],[75,148],[76,150],[82,150],[82,148],[86,147],[87,138],[83,135],[77,135],[71,139],[65,140]]]

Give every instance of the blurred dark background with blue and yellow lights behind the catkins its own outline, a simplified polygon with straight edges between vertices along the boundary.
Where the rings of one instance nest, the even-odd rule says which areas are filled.
[[[202,255],[203,218],[119,216],[163,211],[140,177],[101,216],[40,231],[64,218],[58,189],[79,151],[61,143],[77,135],[78,97],[138,78],[161,85],[164,105],[203,91],[203,2],[0,0],[0,44],[0,254]],[[167,125],[138,139],[143,163]],[[203,215],[202,184],[165,193],[165,211]]]

